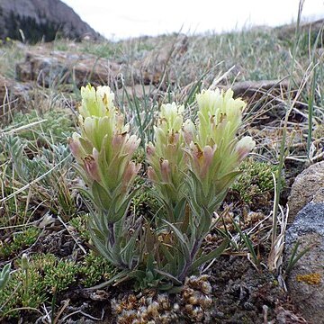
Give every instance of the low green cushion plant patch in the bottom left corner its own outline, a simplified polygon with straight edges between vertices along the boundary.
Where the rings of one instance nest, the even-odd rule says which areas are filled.
[[[0,314],[9,312],[8,317],[19,317],[19,311],[14,311],[19,307],[40,308],[40,304],[53,298],[54,293],[67,290],[79,279],[85,287],[90,287],[116,274],[115,267],[94,252],[87,254],[78,264],[53,254],[36,254],[28,262],[25,290],[26,273],[21,261],[15,266],[16,271],[0,291]]]

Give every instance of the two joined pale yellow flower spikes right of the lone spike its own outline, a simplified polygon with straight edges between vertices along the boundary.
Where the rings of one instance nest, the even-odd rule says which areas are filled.
[[[234,100],[231,90],[203,91],[197,103],[195,123],[183,122],[182,106],[162,106],[155,145],[148,144],[148,175],[169,215],[163,221],[172,245],[162,249],[167,260],[163,269],[180,282],[227,246],[224,241],[209,255],[200,251],[211,230],[213,211],[238,175],[239,164],[255,146],[249,137],[239,141],[236,137],[246,104]]]

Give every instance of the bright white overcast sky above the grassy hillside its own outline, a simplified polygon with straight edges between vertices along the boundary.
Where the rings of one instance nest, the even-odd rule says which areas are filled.
[[[299,0],[62,0],[108,39],[182,30],[230,31],[296,20]],[[324,18],[324,0],[305,0],[302,17]]]

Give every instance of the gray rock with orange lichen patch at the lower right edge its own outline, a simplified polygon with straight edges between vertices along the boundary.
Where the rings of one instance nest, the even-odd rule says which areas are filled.
[[[324,203],[311,202],[300,211],[286,232],[285,262],[296,242],[298,253],[310,247],[288,275],[293,303],[310,323],[324,323]]]

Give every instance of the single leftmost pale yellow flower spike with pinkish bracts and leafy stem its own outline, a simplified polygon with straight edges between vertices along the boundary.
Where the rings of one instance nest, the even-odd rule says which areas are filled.
[[[132,268],[137,253],[129,242],[135,242],[136,235],[130,236],[126,216],[135,193],[130,188],[140,168],[131,157],[140,140],[130,136],[130,126],[113,105],[108,86],[95,90],[87,85],[81,95],[81,134],[75,132],[68,142],[87,185],[85,193],[96,207],[90,217],[92,239],[112,264]]]

